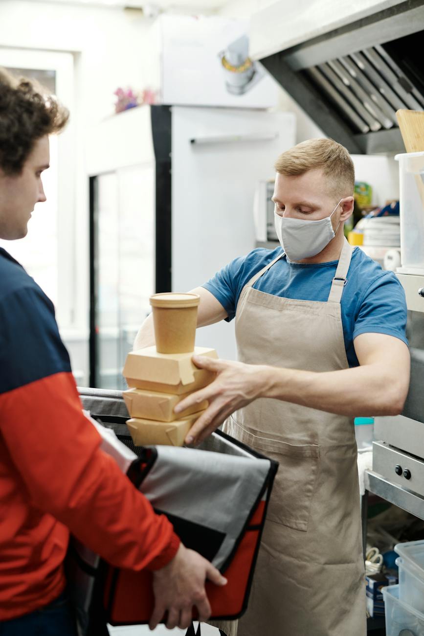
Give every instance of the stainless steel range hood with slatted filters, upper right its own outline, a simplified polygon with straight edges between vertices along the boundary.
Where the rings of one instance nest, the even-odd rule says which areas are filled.
[[[351,153],[404,151],[395,112],[424,110],[424,0],[368,4],[390,6],[363,11],[353,21],[346,13],[342,25],[332,29],[335,21],[327,17],[330,30],[322,24],[318,35],[302,41],[300,34],[295,45],[253,57]],[[255,24],[257,29],[261,20],[253,21],[252,29]]]

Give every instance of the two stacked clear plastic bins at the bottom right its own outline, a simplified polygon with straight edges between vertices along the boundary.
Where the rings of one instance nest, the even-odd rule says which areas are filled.
[[[386,636],[424,636],[424,540],[398,543],[399,585],[383,588]]]

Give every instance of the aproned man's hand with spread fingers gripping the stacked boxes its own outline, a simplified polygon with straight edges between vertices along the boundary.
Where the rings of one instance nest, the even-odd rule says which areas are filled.
[[[187,444],[198,444],[214,432],[242,406],[261,397],[268,385],[269,367],[214,360],[206,356],[193,356],[193,362],[201,369],[215,371],[217,378],[204,389],[192,393],[175,406],[175,413],[209,401],[208,408],[196,420],[186,437]]]

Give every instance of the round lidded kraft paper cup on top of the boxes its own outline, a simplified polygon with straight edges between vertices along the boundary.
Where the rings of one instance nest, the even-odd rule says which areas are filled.
[[[150,297],[154,339],[161,354],[180,354],[195,349],[198,294],[162,293]]]

